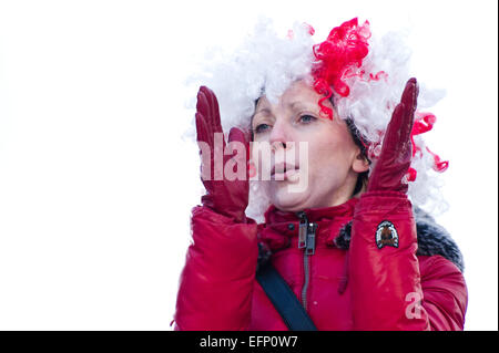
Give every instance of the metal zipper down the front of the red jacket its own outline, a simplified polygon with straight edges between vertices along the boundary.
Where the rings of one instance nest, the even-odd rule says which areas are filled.
[[[308,222],[307,215],[304,211],[299,211],[299,231],[298,231],[298,249],[304,249],[303,252],[303,269],[304,269],[304,282],[302,287],[302,305],[307,310],[307,289],[310,280],[310,259],[309,257],[315,253],[315,233],[317,230],[317,224]]]

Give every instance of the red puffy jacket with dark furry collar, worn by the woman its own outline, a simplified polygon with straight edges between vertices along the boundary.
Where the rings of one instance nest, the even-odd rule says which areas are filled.
[[[407,197],[387,191],[299,214],[271,206],[263,225],[195,207],[175,330],[287,330],[255,280],[258,242],[318,330],[462,330],[461,256],[428,219],[416,227]],[[313,255],[298,249],[301,220],[317,225]],[[378,248],[386,220],[396,236]]]

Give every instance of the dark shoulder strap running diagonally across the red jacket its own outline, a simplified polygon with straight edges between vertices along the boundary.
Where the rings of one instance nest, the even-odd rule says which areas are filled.
[[[258,269],[256,280],[291,331],[317,331],[295,293],[272,264]]]

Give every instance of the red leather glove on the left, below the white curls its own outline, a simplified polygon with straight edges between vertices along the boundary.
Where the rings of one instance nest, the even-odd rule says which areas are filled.
[[[228,148],[231,148],[233,142],[240,142],[244,145],[245,153],[237,153],[237,149],[234,149],[232,154],[225,155],[226,144],[223,135],[220,135],[222,144],[215,146],[215,133],[223,134],[223,131],[220,121],[218,102],[213,91],[208,87],[200,87],[196,108],[197,143],[204,142],[210,147],[210,156],[203,156],[201,165],[202,181],[206,188],[206,195],[202,196],[201,201],[203,206],[213,209],[217,214],[231,217],[236,222],[246,222],[244,211],[247,207],[249,190],[248,168],[246,167],[249,156],[248,139],[241,129],[233,127],[228,134]],[[223,149],[221,150],[220,147]],[[202,150],[200,150],[200,154],[202,155]],[[222,159],[221,164],[215,165],[215,155],[217,156],[216,158]],[[244,179],[227,179],[224,172],[226,164],[231,159],[233,159],[231,162],[232,166],[244,166]],[[203,173],[207,168],[211,172],[210,176]],[[217,168],[217,170],[214,168]],[[215,180],[215,177],[218,180]]]

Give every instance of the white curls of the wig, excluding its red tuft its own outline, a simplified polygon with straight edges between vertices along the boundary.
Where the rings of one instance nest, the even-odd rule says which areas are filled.
[[[352,66],[354,74],[350,70],[349,75],[342,75],[342,82],[349,89],[348,93],[338,94],[333,89],[332,98],[338,116],[344,120],[350,118],[359,133],[369,141],[371,170],[376,165],[376,157],[393,110],[410,77],[411,51],[405,43],[404,33],[390,32],[377,39],[370,35],[368,25],[366,21],[363,27],[358,27],[368,32],[367,55],[359,65]],[[272,20],[261,19],[254,32],[235,52],[212,52],[211,59],[204,61],[201,73],[190,77],[189,83],[206,85],[214,91],[218,98],[225,133],[234,126],[246,129],[258,97],[266,95],[275,103],[296,80],[307,80],[313,84],[313,70],[318,62],[314,52],[314,45],[318,44],[313,40],[313,32],[310,25],[295,23],[286,35],[278,35]],[[429,91],[421,83],[419,86],[416,120],[418,114],[425,115],[419,112],[435,105],[444,96],[441,90]],[[195,89],[192,91],[195,92]],[[191,100],[191,104],[193,102],[194,100]],[[191,136],[195,136],[194,126],[193,120]],[[411,169],[417,173],[417,177],[408,181],[409,199],[414,205],[429,211],[445,211],[447,203],[440,194],[441,180],[436,172],[438,156],[426,147],[421,135],[414,135],[413,138],[418,153],[413,158]],[[247,216],[261,222],[268,206],[269,200],[263,193],[261,183],[252,180]]]

